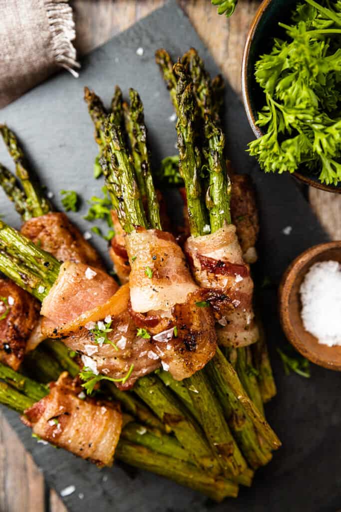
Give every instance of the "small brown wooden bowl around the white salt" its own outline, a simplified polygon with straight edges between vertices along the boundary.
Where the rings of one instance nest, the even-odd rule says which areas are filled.
[[[341,241],[315,245],[291,263],[279,288],[280,320],[289,342],[304,357],[330,370],[341,370],[341,346],[320,344],[315,336],[304,329],[301,318],[301,283],[311,265],[326,260],[341,263]]]

